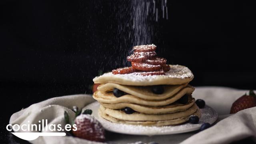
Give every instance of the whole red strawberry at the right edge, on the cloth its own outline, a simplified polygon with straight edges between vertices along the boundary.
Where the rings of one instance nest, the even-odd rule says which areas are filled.
[[[240,110],[252,108],[254,106],[256,106],[256,94],[253,90],[250,90],[249,95],[244,94],[232,104],[230,114],[234,114]]]

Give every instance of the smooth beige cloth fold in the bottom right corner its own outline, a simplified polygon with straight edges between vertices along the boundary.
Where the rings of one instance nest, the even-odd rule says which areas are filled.
[[[229,144],[250,136],[256,137],[256,107],[229,116],[181,144]]]

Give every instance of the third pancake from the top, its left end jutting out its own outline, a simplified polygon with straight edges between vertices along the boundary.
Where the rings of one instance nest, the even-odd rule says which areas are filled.
[[[174,94],[170,98],[164,100],[145,100],[142,98],[138,98],[136,96],[132,96],[130,94],[126,94],[121,97],[116,97],[112,92],[102,92],[97,90],[93,94],[93,98],[100,103],[106,104],[118,104],[118,103],[132,103],[132,104],[140,104],[145,106],[165,106],[168,104],[172,104],[176,100],[180,99],[185,94],[192,94],[194,91],[194,87],[186,86],[181,89],[178,93]]]

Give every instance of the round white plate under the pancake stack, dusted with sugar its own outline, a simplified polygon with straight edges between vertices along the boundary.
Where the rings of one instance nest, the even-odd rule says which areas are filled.
[[[201,118],[198,124],[180,124],[176,126],[141,126],[141,125],[130,125],[130,124],[117,124],[105,120],[98,115],[98,108],[100,104],[93,102],[85,107],[85,109],[91,109],[92,115],[102,124],[102,126],[111,132],[117,132],[121,134],[133,134],[133,135],[165,135],[165,134],[179,134],[184,132],[191,132],[200,129],[200,126],[204,122],[210,124],[214,123],[217,118],[217,112],[210,106],[205,106],[201,110]]]

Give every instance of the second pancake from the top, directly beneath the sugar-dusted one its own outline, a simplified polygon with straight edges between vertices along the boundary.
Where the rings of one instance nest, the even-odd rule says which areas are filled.
[[[103,92],[111,92],[114,88],[117,88],[127,94],[137,96],[145,100],[163,100],[173,96],[185,86],[187,86],[187,83],[181,85],[164,85],[163,94],[154,94],[151,91],[152,86],[126,86],[114,83],[101,84],[97,89]]]

